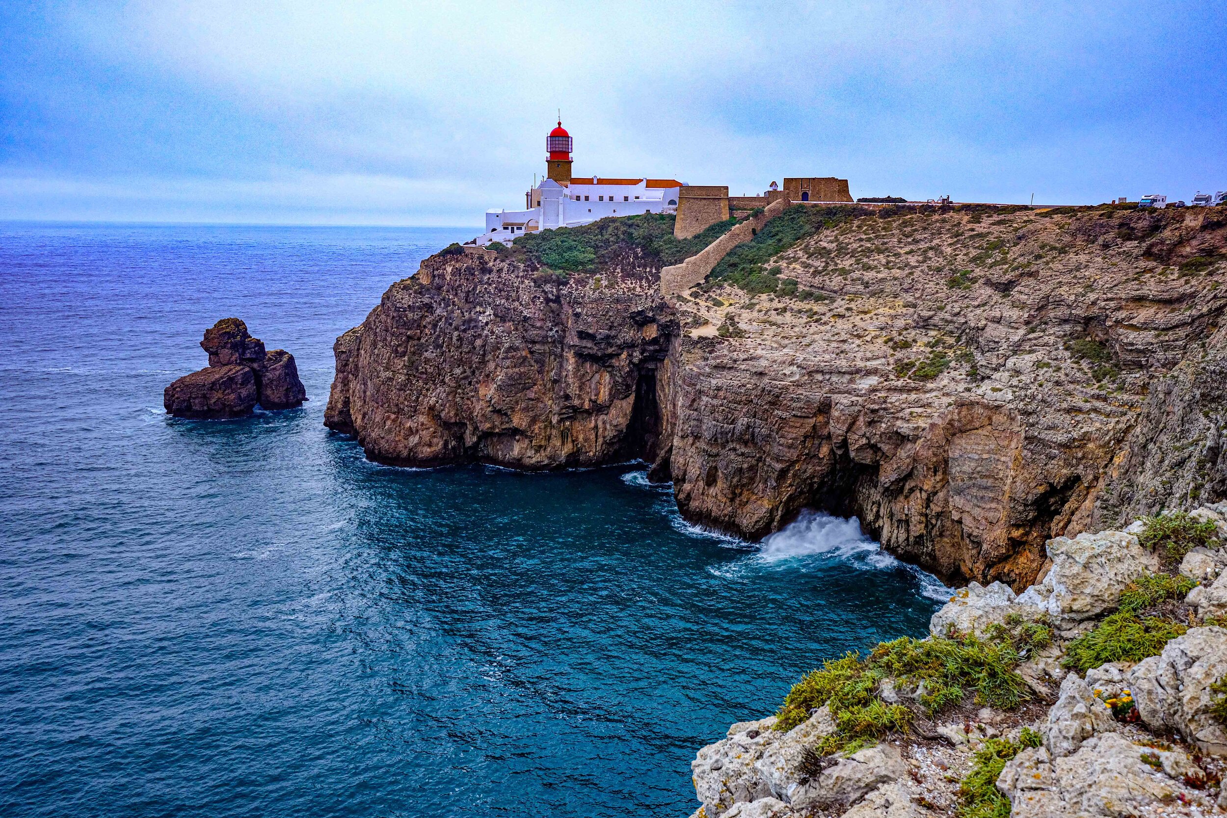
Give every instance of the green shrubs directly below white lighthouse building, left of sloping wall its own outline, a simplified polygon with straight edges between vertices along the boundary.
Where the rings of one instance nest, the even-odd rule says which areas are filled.
[[[602,218],[583,227],[526,233],[515,239],[512,253],[566,272],[590,272],[628,251],[665,267],[694,255],[737,223],[735,218],[717,222],[698,235],[679,240],[674,238],[674,216],[661,213]]]

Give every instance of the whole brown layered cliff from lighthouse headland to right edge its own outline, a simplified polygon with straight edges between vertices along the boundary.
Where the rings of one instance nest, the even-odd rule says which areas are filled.
[[[860,215],[772,261],[805,300],[436,256],[337,341],[328,423],[395,464],[643,456],[691,520],[856,514],[1021,587],[1052,536],[1222,497],[1220,211]]]

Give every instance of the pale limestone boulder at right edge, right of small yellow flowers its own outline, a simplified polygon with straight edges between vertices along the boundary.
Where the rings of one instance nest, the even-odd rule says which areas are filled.
[[[1211,686],[1227,676],[1227,629],[1193,628],[1137,663],[1129,689],[1137,715],[1156,732],[1173,731],[1207,754],[1227,755],[1227,730],[1212,714]]]

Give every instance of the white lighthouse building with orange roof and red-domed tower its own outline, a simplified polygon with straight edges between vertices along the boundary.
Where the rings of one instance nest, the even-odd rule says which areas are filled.
[[[475,244],[510,244],[525,233],[578,227],[606,216],[677,212],[676,179],[606,179],[571,175],[571,135],[562,123],[546,137],[546,178],[529,190],[526,210],[487,210],[486,232]]]

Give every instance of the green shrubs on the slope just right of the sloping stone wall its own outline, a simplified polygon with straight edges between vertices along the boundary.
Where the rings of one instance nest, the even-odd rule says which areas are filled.
[[[767,270],[773,258],[818,231],[837,227],[863,212],[856,207],[793,205],[767,222],[753,239],[730,250],[708,275],[708,281],[725,281],[748,293],[775,293],[780,285],[787,288],[788,280]]]

